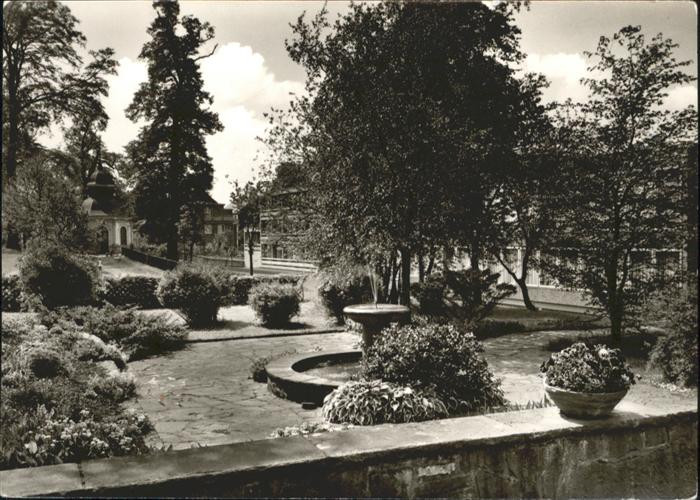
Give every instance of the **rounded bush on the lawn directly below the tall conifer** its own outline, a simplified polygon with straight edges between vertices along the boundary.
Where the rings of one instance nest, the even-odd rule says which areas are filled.
[[[190,326],[209,326],[216,323],[221,288],[211,273],[180,267],[163,276],[158,298],[165,307],[178,309]]]

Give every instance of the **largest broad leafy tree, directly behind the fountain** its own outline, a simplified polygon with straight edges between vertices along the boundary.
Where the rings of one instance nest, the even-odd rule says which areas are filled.
[[[493,184],[520,97],[511,11],[380,3],[353,5],[332,29],[324,11],[293,26],[307,96],[271,117],[268,142],[305,170],[311,243],[384,269],[398,253],[404,304],[413,257],[468,241],[478,262],[502,210]]]

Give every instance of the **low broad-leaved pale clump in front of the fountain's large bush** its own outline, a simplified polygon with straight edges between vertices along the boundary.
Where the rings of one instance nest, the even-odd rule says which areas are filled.
[[[381,380],[347,382],[323,401],[323,418],[335,424],[377,425],[421,422],[448,416],[431,391]]]

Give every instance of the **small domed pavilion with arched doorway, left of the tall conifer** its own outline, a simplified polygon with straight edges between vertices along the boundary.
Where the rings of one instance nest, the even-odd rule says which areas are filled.
[[[120,246],[132,243],[134,221],[116,191],[114,177],[105,167],[100,166],[90,176],[82,210],[88,216],[88,228],[94,232],[94,253],[119,252]]]

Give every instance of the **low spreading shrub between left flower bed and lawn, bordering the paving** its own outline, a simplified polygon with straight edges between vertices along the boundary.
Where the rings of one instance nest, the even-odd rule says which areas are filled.
[[[116,346],[131,361],[179,349],[187,337],[182,326],[172,324],[162,316],[111,305],[51,311],[42,314],[40,321],[52,332],[54,328],[60,328],[89,333],[108,345]]]

